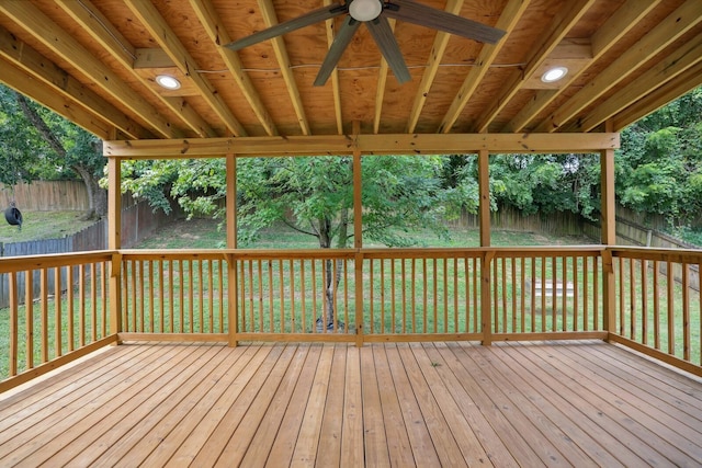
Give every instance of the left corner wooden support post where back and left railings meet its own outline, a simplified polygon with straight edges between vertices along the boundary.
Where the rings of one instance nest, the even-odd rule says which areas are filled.
[[[110,262],[110,333],[122,332],[122,160],[107,161],[107,248],[115,253]],[[120,341],[117,340],[118,344]]]

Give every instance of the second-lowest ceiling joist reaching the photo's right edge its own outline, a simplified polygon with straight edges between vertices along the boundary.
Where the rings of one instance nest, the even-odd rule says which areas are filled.
[[[565,130],[592,130],[611,116],[634,104],[642,95],[646,94],[646,90],[655,90],[664,85],[701,61],[702,34],[699,34],[693,41],[684,44],[676,52],[667,54],[663,61],[659,61],[633,82],[609,96],[607,101],[598,104],[596,109],[588,113],[587,117],[566,126]]]

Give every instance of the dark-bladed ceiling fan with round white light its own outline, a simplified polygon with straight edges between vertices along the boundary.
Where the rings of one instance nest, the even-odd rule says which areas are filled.
[[[351,43],[353,34],[361,23],[365,23],[373,39],[377,44],[387,65],[393,70],[395,78],[401,84],[411,79],[409,69],[405,64],[403,54],[395,41],[393,30],[387,19],[406,21],[451,34],[456,34],[482,43],[495,44],[503,35],[505,31],[486,26],[478,22],[437,10],[412,0],[346,0],[341,3],[332,3],[303,14],[302,16],[285,21],[267,30],[251,34],[227,44],[233,50],[239,50],[253,44],[280,36],[291,31],[310,24],[330,20],[347,14],[341,28],[325,57],[321,68],[317,73],[314,85],[324,85],[331,71],[339,62],[341,54]]]

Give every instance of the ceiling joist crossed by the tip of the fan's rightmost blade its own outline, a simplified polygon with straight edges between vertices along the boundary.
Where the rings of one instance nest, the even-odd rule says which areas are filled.
[[[502,10],[502,14],[500,14],[495,27],[506,31],[507,34],[505,36],[509,37],[510,33],[514,30],[517,23],[519,23],[519,20],[522,18],[522,14],[526,11],[530,1],[531,0],[510,0],[507,7],[505,7],[505,10]],[[458,119],[458,116],[473,96],[473,93],[475,93],[478,84],[480,84],[480,81],[483,81],[483,78],[490,69],[490,66],[497,58],[505,43],[506,41],[502,39],[495,45],[483,45],[483,48],[475,60],[474,67],[471,68],[471,71],[468,71],[461,89],[456,93],[455,98],[453,98],[453,102],[444,115],[438,133],[448,134],[451,132],[451,128],[453,128],[453,125]]]

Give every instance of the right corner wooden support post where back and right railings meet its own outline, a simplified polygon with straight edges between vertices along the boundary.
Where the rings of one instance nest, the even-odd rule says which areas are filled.
[[[616,243],[616,207],[614,204],[614,150],[600,152],[601,187],[602,187],[602,232],[601,241],[607,247]],[[604,331],[615,331],[616,292],[612,255],[609,251],[602,254],[602,326]]]

